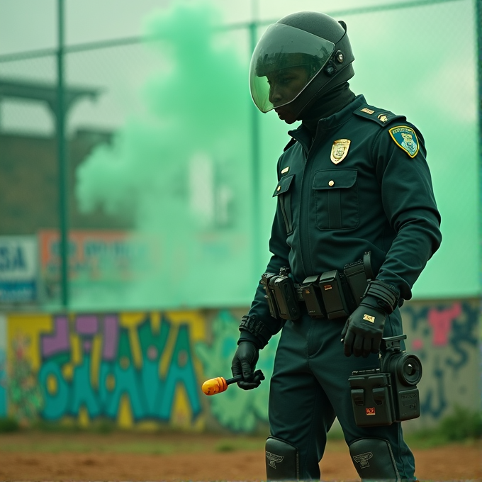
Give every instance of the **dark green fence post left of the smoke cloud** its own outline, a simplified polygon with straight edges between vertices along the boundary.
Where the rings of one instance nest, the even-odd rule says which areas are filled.
[[[65,85],[64,85],[64,0],[58,0],[57,49],[57,160],[59,170],[59,228],[60,228],[60,292],[62,307],[69,306],[69,238],[68,238],[68,181],[65,148]]]

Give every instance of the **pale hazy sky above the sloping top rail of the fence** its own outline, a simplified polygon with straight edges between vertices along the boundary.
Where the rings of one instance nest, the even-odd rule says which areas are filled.
[[[142,33],[143,22],[172,0],[65,0],[65,37],[69,45]],[[191,0],[193,3],[200,0]],[[264,20],[293,11],[339,11],[400,0],[213,0],[225,23]],[[0,55],[55,47],[57,0],[0,0]]]

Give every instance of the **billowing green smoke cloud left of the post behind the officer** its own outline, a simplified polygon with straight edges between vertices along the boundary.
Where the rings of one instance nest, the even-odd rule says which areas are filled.
[[[218,13],[205,3],[174,4],[147,21],[147,48],[159,68],[142,89],[145,113],[131,117],[113,145],[98,147],[77,171],[83,211],[100,205],[115,215],[133,212],[136,232],[157,239],[159,269],[129,286],[121,306],[242,305],[254,291],[256,280],[246,274],[248,59],[218,25]]]

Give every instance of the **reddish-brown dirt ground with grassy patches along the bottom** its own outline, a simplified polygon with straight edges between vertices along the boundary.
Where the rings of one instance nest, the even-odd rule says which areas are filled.
[[[262,481],[264,439],[213,435],[0,436],[1,481]],[[417,478],[482,481],[482,441],[413,449]],[[323,481],[359,480],[342,441],[328,442]]]

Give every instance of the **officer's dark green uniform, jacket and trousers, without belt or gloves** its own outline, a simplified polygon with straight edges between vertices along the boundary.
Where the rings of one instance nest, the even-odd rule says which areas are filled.
[[[405,117],[369,106],[363,96],[318,123],[312,142],[301,125],[289,132],[281,155],[274,196],[278,206],[269,242],[267,272],[290,267],[296,283],[371,252],[376,279],[394,286],[400,301],[438,249],[440,217],[432,191],[420,132]],[[349,142],[348,142],[349,141]],[[348,377],[376,368],[378,356],[345,357],[340,333],[346,318],[284,323],[271,318],[260,284],[250,309],[255,333],[240,329],[241,340],[259,347],[283,328],[271,379],[271,435],[298,448],[300,478],[319,478],[326,432],[335,415],[345,439],[381,437],[391,444],[401,478],[412,478],[413,455],[400,423],[357,427]],[[259,323],[260,322],[260,323]],[[262,327],[259,330],[259,327]],[[398,308],[387,316],[384,336],[403,333]]]

